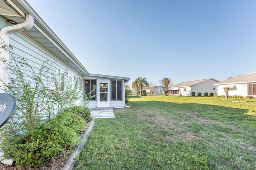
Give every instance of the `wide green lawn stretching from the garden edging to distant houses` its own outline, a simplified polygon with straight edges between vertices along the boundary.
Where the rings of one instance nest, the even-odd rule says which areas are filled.
[[[96,119],[75,170],[255,170],[256,100],[145,96]]]

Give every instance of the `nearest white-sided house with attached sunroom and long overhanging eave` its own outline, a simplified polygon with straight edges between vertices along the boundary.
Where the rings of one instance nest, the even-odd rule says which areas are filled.
[[[1,42],[12,45],[13,53],[24,57],[35,69],[48,60],[52,63],[49,67],[55,74],[53,76],[67,72],[65,81],[69,84],[79,78],[81,96],[89,90],[95,95],[88,100],[88,107],[125,106],[124,86],[130,78],[90,74],[26,1],[0,1],[0,29]],[[4,50],[0,52],[1,57],[10,59]],[[0,79],[8,83],[8,78],[9,74],[0,63]],[[84,100],[80,98],[80,102]]]

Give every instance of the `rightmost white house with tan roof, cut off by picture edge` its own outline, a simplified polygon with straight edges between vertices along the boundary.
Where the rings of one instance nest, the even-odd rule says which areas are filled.
[[[214,85],[217,88],[218,96],[225,95],[223,88],[229,87],[229,96],[241,95],[256,97],[256,72],[231,77]]]

